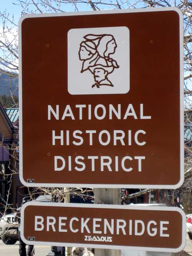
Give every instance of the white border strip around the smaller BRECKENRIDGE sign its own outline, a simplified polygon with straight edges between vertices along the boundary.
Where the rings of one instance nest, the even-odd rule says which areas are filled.
[[[158,247],[141,247],[141,246],[116,246],[106,244],[78,244],[78,243],[57,243],[57,242],[41,242],[41,241],[28,241],[24,237],[24,210],[27,206],[56,206],[56,207],[77,207],[77,208],[107,208],[107,209],[133,209],[133,210],[148,210],[148,211],[177,211],[182,216],[182,243],[178,248],[158,248]],[[27,216],[26,216],[27,218]],[[22,206],[21,209],[21,238],[26,244],[34,245],[49,245],[49,246],[70,246],[70,247],[86,247],[86,248],[100,248],[100,249],[129,249],[136,251],[161,251],[161,252],[174,252],[177,253],[185,247],[186,243],[186,216],[184,211],[178,207],[167,206],[135,206],[135,205],[111,205],[111,204],[73,204],[73,203],[38,203],[28,202]]]

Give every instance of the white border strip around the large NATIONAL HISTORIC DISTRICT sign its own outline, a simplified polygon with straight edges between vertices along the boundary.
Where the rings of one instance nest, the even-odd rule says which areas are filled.
[[[180,25],[180,181],[175,185],[129,185],[129,184],[73,184],[73,183],[27,183],[23,179],[23,140],[22,140],[22,22],[26,18],[38,17],[60,17],[73,15],[99,15],[109,13],[137,13],[137,12],[162,12],[175,11],[179,14]],[[19,132],[19,163],[20,181],[25,186],[30,187],[91,187],[91,188],[159,188],[159,189],[176,189],[184,182],[184,68],[183,68],[183,14],[176,7],[146,8],[146,9],[126,9],[126,10],[105,10],[105,11],[88,11],[88,12],[65,12],[65,13],[43,13],[23,15],[18,22],[18,47],[19,47],[19,109],[20,109],[20,132]],[[32,178],[32,177],[31,177]]]

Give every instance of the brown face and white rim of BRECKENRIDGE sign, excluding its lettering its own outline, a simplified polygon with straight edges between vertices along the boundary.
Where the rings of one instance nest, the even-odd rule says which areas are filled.
[[[35,216],[42,216],[44,218],[44,229],[42,231],[35,231]],[[55,229],[50,226],[50,230],[46,230],[46,217],[51,216],[56,219]],[[62,229],[67,229],[67,232],[59,232],[59,217],[67,217],[66,220],[62,220],[65,226]],[[78,232],[73,233],[70,230],[70,219],[76,217],[79,221],[73,221],[73,229],[79,229]],[[87,218],[90,220],[87,223],[91,233],[88,233],[84,228],[81,233],[81,218],[84,221]],[[101,234],[93,233],[93,218],[100,218],[101,221],[97,221],[100,227],[97,227],[97,231],[101,231]],[[106,234],[104,234],[104,219],[107,219],[111,223],[111,219],[114,219],[114,234],[109,232],[107,228]],[[124,228],[125,233],[119,230],[119,234],[116,233],[116,220],[123,219],[127,225]],[[132,220],[132,235],[129,235],[129,220]],[[131,246],[132,249],[138,250],[151,250],[151,251],[181,251],[185,246],[185,215],[179,208],[173,207],[157,207],[157,206],[118,206],[118,205],[91,205],[91,204],[65,204],[65,203],[27,203],[22,207],[21,215],[21,234],[22,239],[26,244],[49,244],[57,246],[80,246],[80,247],[93,247],[93,248],[111,248],[122,249],[123,246]],[[135,235],[134,221],[142,220],[145,225],[145,231],[142,235]],[[156,221],[157,225],[151,225],[152,228],[157,228],[157,234],[150,236],[147,233],[147,224],[149,221]],[[169,234],[169,237],[160,236],[160,221],[169,221],[169,224],[164,224],[163,234]],[[122,224],[122,223],[121,223]],[[38,225],[38,228],[41,226]],[[141,232],[141,225],[138,231]],[[94,236],[101,238],[102,236],[111,237],[110,242],[101,241],[85,241],[85,236]],[[34,241],[30,241],[33,238]],[[158,248],[158,249],[157,249]],[[130,248],[131,249],[131,248]]]

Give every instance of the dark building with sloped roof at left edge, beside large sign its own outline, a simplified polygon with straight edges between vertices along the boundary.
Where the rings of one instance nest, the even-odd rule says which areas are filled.
[[[18,168],[18,127],[10,120],[0,103],[0,212],[16,208],[20,203],[18,188],[23,186],[19,180]]]

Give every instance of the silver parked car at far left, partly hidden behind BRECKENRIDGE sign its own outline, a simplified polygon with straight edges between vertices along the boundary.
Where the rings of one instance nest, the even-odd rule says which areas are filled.
[[[51,195],[40,195],[35,201],[51,202]],[[20,211],[21,207],[17,210]],[[0,220],[0,237],[4,244],[15,244],[18,241],[17,213],[5,214]]]

